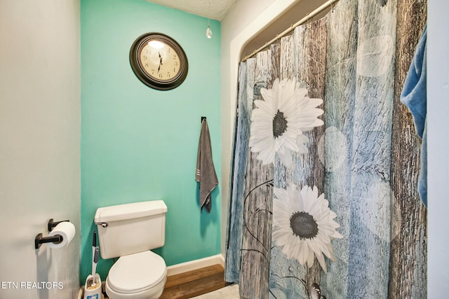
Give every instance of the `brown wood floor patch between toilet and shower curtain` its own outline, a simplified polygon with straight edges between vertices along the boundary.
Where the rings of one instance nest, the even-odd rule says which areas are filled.
[[[161,299],[192,298],[228,285],[222,265],[212,265],[167,277]]]

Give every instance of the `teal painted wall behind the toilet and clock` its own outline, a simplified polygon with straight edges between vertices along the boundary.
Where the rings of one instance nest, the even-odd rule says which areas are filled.
[[[201,116],[208,120],[220,180],[220,22],[145,0],[81,0],[81,284],[91,272],[98,207],[166,202],[167,265],[220,253],[220,188],[210,214],[199,209],[194,180]],[[147,32],[173,37],[189,74],[170,91],[148,88],[129,63]],[[102,279],[112,260],[101,260]]]

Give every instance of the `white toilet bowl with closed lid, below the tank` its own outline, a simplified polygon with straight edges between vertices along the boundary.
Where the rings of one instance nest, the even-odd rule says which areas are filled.
[[[153,299],[161,297],[167,267],[152,251],[121,256],[109,270],[106,293],[109,299]]]

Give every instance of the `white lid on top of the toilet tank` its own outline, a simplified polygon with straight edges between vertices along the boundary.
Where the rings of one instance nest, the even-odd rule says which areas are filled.
[[[121,221],[130,218],[140,218],[166,213],[166,211],[167,206],[163,200],[118,204],[115,206],[98,208],[95,213],[94,221],[95,223]]]

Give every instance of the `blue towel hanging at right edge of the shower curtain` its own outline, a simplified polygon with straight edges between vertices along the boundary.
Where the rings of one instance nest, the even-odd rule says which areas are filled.
[[[424,26],[418,41],[412,64],[401,93],[401,102],[413,115],[415,130],[422,138],[421,171],[418,178],[418,192],[427,207],[427,25]]]

